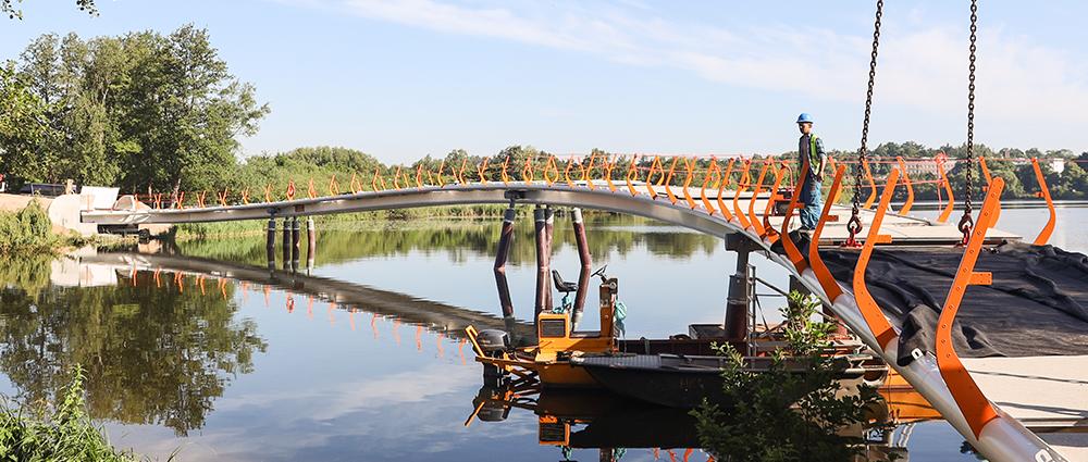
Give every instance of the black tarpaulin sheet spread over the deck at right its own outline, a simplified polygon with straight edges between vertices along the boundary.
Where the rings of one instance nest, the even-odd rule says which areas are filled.
[[[852,284],[860,250],[820,249],[831,274]],[[901,329],[900,364],[932,351],[937,320],[963,255],[953,247],[877,248],[865,282]],[[1088,354],[1088,257],[1053,246],[1006,242],[984,248],[976,272],[990,286],[968,286],[952,339],[963,358]]]

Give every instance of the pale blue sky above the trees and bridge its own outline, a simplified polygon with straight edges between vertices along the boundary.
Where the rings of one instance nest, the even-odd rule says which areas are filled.
[[[873,2],[26,0],[39,34],[211,32],[272,113],[242,155],[332,145],[383,161],[514,143],[557,153],[765,153],[799,112],[856,149]],[[870,142],[965,139],[966,1],[889,2]],[[1088,3],[980,5],[976,139],[1088,150]]]

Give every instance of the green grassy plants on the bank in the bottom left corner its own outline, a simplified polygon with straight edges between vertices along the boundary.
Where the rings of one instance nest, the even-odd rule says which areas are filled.
[[[72,383],[51,414],[4,405],[0,409],[0,460],[5,461],[135,461],[128,451],[110,446],[87,416],[83,369],[72,371]]]

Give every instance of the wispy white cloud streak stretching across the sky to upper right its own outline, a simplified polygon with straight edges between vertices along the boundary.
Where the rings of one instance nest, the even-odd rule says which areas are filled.
[[[848,103],[864,99],[871,38],[867,27],[843,32],[771,21],[724,27],[697,17],[667,17],[642,2],[281,1],[321,2],[321,8],[373,21],[570,50],[740,88]],[[966,27],[927,22],[931,14],[912,8],[898,21],[886,17],[877,111],[899,108],[942,121],[965,112]],[[1010,130],[1026,130],[1015,139],[1034,143],[1043,141],[1037,138],[1066,140],[1079,129],[1088,105],[1088,66],[1000,25],[984,24],[979,37],[977,117],[980,127],[992,130],[984,135],[1005,142]]]

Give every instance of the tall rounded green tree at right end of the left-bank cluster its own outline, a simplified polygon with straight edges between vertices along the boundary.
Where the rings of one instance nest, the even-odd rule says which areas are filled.
[[[190,24],[169,37],[127,39],[139,43],[140,72],[123,91],[120,129],[140,152],[127,158],[123,184],[177,192],[225,183],[236,164],[237,136],[257,132],[268,104],[230,74],[206,29]]]

